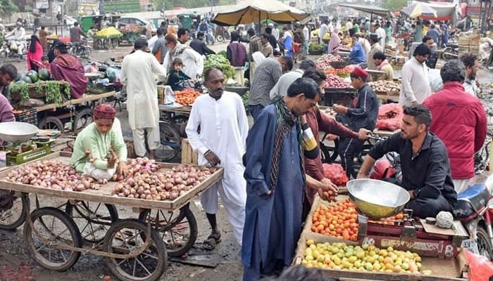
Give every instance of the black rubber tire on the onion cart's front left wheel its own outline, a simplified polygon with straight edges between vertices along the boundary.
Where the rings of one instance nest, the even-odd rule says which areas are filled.
[[[63,211],[54,207],[43,207],[41,209],[35,209],[35,211],[32,211],[30,216],[32,222],[35,223],[38,218],[41,218],[44,215],[54,216],[58,218],[58,220],[60,220],[63,224],[65,224],[65,227],[70,232],[70,236],[73,241],[73,247],[82,248],[82,238],[80,237],[79,229],[77,228],[77,225],[74,223],[72,218],[70,218]],[[27,245],[27,250],[30,252],[32,259],[35,259],[35,261],[44,268],[47,268],[49,270],[65,271],[68,270],[68,268],[71,268],[79,259],[80,251],[73,251],[67,261],[65,261],[65,263],[61,263],[61,266],[51,266],[44,263],[44,261],[37,258],[37,253],[35,252],[35,249],[33,249],[34,245],[32,244],[31,233],[31,226],[29,225],[29,223],[26,223],[24,226],[23,235],[25,244]]]

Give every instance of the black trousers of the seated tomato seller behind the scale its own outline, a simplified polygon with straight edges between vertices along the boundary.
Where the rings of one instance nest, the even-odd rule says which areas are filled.
[[[412,209],[413,216],[418,216],[420,218],[435,218],[439,211],[452,211],[451,204],[442,195],[436,199],[415,198],[408,202],[406,208]]]

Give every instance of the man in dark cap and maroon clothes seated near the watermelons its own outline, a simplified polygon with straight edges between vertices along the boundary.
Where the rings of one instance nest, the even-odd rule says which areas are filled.
[[[65,80],[70,84],[70,96],[80,98],[87,89],[89,81],[84,75],[84,65],[73,55],[68,54],[68,47],[59,41],[53,51],[55,58],[50,64],[51,78]]]

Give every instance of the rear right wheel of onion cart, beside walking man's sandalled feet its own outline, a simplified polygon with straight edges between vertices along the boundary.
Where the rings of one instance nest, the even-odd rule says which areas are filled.
[[[197,222],[188,206],[173,213],[146,209],[139,214],[139,220],[151,223],[159,232],[169,256],[183,256],[197,239]]]

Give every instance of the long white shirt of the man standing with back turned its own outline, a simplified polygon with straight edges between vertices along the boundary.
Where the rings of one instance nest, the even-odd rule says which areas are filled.
[[[140,50],[125,55],[120,81],[127,85],[127,111],[130,129],[159,125],[158,86],[155,75],[166,75],[154,55]]]

